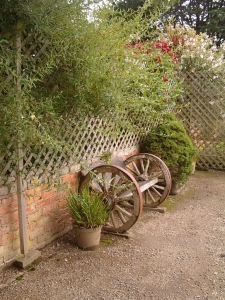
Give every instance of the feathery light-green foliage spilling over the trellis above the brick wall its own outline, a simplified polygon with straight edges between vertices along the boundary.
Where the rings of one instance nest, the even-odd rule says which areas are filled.
[[[159,66],[155,54],[126,47],[148,31],[146,8],[128,18],[132,12],[114,15],[108,4],[90,11],[93,2],[98,1],[2,1],[2,151],[14,136],[29,144],[65,149],[59,131],[61,121],[69,122],[71,115],[107,115],[119,126],[133,128],[137,119],[174,105],[180,88],[170,57],[165,55]],[[19,45],[30,35],[33,50],[27,54]],[[38,58],[35,47],[44,49]],[[157,51],[153,47],[152,53]],[[164,73],[169,82],[162,80]]]

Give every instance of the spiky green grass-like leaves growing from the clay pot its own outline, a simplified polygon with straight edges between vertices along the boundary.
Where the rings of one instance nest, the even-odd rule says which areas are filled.
[[[102,201],[102,195],[83,188],[79,193],[72,188],[67,196],[68,208],[78,227],[96,228],[102,226],[109,217],[106,203]]]

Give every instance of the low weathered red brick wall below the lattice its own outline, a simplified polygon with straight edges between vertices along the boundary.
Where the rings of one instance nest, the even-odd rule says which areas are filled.
[[[64,184],[78,185],[79,173],[65,175]],[[40,249],[66,233],[72,224],[65,191],[47,185],[24,192],[28,249]],[[17,195],[0,200],[0,267],[20,255]]]

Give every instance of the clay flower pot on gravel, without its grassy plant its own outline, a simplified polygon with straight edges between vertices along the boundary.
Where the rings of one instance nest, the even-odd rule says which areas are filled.
[[[76,245],[83,250],[95,250],[99,246],[102,226],[96,228],[74,227]]]

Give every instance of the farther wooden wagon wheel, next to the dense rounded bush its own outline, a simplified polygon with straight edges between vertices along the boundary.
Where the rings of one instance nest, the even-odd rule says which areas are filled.
[[[144,206],[154,208],[165,200],[172,180],[168,167],[159,157],[141,153],[129,157],[124,163],[140,186]]]

